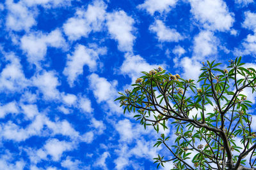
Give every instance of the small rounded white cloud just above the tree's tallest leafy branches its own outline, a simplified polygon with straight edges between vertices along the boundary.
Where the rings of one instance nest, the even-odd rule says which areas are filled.
[[[193,57],[203,61],[205,57],[216,55],[218,39],[211,31],[201,31],[194,38]]]

